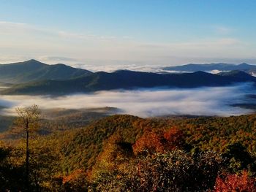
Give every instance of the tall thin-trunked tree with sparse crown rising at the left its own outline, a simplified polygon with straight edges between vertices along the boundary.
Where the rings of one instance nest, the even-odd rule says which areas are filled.
[[[39,109],[37,105],[32,105],[31,107],[17,108],[18,118],[15,120],[15,126],[20,129],[20,131],[25,132],[26,137],[26,189],[29,191],[29,139],[31,134],[39,128]]]

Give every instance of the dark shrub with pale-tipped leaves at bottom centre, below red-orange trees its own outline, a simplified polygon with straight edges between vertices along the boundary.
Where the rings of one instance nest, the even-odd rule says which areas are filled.
[[[221,163],[214,153],[197,158],[181,150],[154,153],[130,162],[122,172],[100,175],[94,191],[206,191],[214,188]]]

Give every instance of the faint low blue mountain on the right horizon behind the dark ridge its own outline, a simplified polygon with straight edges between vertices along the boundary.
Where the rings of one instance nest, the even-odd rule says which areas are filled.
[[[212,70],[219,70],[219,71],[233,71],[233,70],[248,70],[248,69],[256,69],[255,65],[249,65],[249,64],[187,64],[182,66],[167,66],[163,67],[164,70],[169,71],[181,71],[181,72],[197,72],[197,71],[203,71],[203,72],[210,72]]]

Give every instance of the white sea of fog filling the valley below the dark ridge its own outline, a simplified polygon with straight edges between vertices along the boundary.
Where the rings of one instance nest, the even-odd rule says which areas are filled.
[[[69,96],[0,96],[1,115],[14,115],[16,107],[37,104],[41,109],[84,109],[117,107],[121,114],[154,117],[159,115],[242,115],[252,110],[231,107],[248,102],[255,94],[250,83],[216,88],[140,89],[99,91]],[[251,102],[251,101],[250,101]]]

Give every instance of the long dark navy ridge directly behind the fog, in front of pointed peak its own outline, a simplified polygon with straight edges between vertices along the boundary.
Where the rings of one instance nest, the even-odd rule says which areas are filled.
[[[135,88],[197,88],[202,86],[224,86],[236,82],[256,82],[245,72],[235,74],[209,74],[194,72],[183,74],[157,74],[119,70],[112,73],[96,72],[72,80],[45,80],[14,85],[1,91],[3,94],[52,94],[89,93],[115,89]]]

